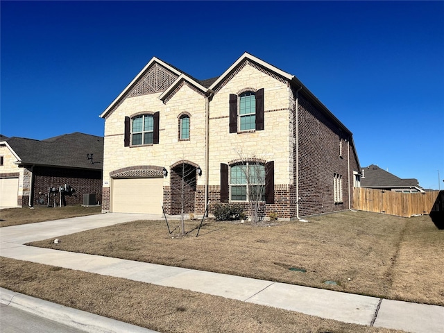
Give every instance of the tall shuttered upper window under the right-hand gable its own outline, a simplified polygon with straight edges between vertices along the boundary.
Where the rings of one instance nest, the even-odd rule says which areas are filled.
[[[230,133],[249,130],[264,130],[264,88],[230,94]]]

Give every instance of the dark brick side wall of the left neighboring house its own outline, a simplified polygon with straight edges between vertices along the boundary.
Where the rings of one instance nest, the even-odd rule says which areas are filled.
[[[45,205],[49,187],[71,185],[76,190],[76,196],[65,196],[67,205],[81,205],[83,194],[96,194],[96,200],[102,203],[102,171],[86,171],[78,169],[60,169],[51,167],[34,167],[33,169],[33,204],[44,197]],[[41,192],[42,194],[39,194]],[[51,196],[51,204],[53,196]],[[26,201],[25,198],[22,201]],[[59,203],[59,196],[56,196]],[[28,205],[28,202],[24,203]]]

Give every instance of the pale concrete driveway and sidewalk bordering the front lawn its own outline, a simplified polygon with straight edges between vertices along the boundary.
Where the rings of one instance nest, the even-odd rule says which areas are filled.
[[[62,234],[99,226],[159,219],[143,214],[101,214],[75,219],[1,228],[0,255],[14,259],[110,275],[165,287],[176,287],[304,314],[414,333],[444,333],[444,307],[384,300],[234,275],[162,266],[125,259],[24,246]]]

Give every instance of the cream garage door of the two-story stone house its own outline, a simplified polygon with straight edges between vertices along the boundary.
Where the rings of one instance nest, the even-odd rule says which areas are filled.
[[[114,179],[111,211],[162,214],[163,178]]]

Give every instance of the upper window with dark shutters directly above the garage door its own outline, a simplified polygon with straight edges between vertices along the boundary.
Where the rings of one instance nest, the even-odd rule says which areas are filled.
[[[142,146],[159,143],[159,114],[136,114],[125,117],[124,146]]]

